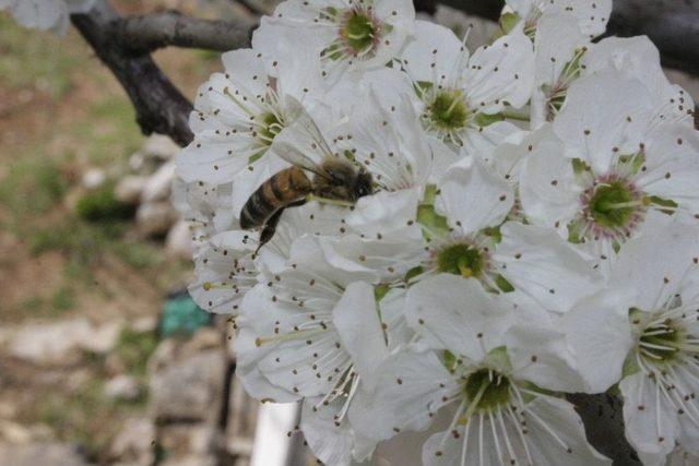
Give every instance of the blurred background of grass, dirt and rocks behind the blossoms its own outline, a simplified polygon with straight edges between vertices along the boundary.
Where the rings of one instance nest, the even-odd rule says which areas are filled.
[[[232,0],[112,4],[253,17]],[[436,17],[459,34],[474,23],[472,47],[494,27],[445,8]],[[210,51],[155,59],[189,98],[221,69]],[[699,98],[697,82],[670,77]],[[169,201],[177,151],[141,134],[74,31],[0,13],[0,465],[246,465],[256,449],[259,465],[285,449],[287,464],[312,461],[286,435],[293,409],[258,422],[233,378],[229,323],[187,296],[190,235]],[[257,446],[256,428],[268,432]]]

